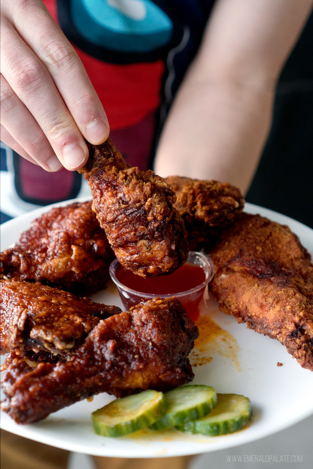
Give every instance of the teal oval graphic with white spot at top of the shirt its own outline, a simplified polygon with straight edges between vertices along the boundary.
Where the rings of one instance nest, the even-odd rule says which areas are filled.
[[[72,0],[80,34],[94,45],[145,53],[170,41],[173,24],[150,0]]]

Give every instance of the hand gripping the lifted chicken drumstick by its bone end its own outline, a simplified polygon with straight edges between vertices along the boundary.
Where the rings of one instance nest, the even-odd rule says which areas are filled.
[[[1,140],[47,171],[76,170],[106,113],[75,50],[40,0],[1,1]]]

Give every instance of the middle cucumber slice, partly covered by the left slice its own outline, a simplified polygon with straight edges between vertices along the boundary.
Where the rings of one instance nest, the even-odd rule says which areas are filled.
[[[160,420],[151,425],[154,430],[165,430],[204,417],[216,404],[214,388],[205,385],[178,387],[165,393],[165,398],[168,401],[168,410]]]

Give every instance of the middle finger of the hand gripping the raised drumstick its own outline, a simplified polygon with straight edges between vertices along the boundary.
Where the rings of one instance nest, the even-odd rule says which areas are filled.
[[[1,31],[3,76],[34,116],[61,163],[72,170],[84,165],[87,146],[52,77],[16,30],[8,23],[5,26]]]

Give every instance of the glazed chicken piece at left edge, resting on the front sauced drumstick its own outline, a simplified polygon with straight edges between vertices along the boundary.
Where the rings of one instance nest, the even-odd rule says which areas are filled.
[[[67,355],[100,319],[122,311],[38,282],[15,280],[1,280],[0,306],[1,355],[16,349],[28,357],[40,353],[41,359]]]

